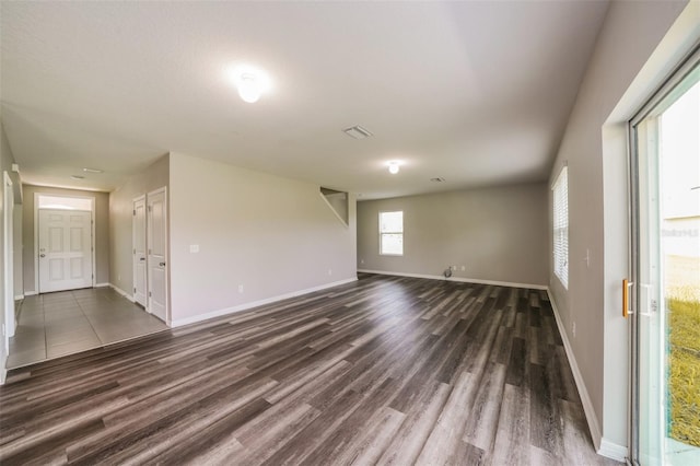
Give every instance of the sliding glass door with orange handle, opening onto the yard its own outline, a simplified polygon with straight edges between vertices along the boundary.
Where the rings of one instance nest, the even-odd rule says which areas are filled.
[[[700,58],[631,121],[631,456],[700,465]]]

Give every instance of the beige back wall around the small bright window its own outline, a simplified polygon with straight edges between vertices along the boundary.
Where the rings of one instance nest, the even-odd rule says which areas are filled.
[[[547,284],[547,185],[456,190],[358,203],[358,268]],[[404,211],[404,256],[381,256],[378,212]],[[465,266],[465,270],[462,270]]]

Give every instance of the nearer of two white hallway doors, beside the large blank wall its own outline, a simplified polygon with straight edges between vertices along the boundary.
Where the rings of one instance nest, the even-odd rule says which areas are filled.
[[[167,205],[165,188],[147,197],[148,308],[167,322]]]

